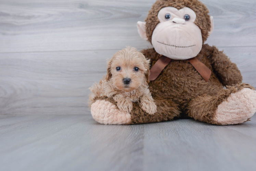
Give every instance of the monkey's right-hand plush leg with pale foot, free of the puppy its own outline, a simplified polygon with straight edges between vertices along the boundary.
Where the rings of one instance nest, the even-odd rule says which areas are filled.
[[[195,120],[219,125],[243,123],[255,112],[256,91],[249,84],[227,87],[216,96],[198,96],[188,107],[189,116]]]

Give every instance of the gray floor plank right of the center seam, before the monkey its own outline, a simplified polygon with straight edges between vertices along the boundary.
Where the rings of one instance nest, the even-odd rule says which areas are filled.
[[[255,128],[255,122],[243,126]],[[178,120],[169,125],[163,122],[148,127],[144,135],[144,148],[147,149],[144,155],[153,157],[144,162],[145,170],[240,171],[254,168],[255,133],[248,135],[245,129],[232,129],[239,130],[239,126]]]

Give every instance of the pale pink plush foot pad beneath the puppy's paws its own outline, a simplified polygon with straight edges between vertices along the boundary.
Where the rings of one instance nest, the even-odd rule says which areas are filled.
[[[116,105],[105,100],[97,100],[91,106],[93,119],[101,124],[120,125],[131,122],[131,115],[119,110]]]

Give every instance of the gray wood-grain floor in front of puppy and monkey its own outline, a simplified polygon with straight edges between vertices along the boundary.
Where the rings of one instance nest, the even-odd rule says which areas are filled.
[[[256,117],[101,125],[89,115],[0,115],[0,170],[251,171]]]

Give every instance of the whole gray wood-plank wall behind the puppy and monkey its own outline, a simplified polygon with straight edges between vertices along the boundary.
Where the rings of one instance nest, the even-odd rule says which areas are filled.
[[[255,0],[202,0],[214,16],[207,40],[256,84]],[[90,114],[88,88],[106,59],[140,38],[155,0],[0,0],[0,114]]]

